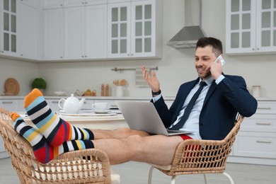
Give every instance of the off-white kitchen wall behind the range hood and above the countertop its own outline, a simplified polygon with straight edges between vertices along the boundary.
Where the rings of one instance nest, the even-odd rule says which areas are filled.
[[[86,88],[90,88],[91,90],[96,89],[97,95],[100,96],[100,84],[110,84],[113,87],[114,79],[127,79],[128,85],[125,95],[150,97],[149,88],[137,88],[135,86],[134,71],[124,71],[122,73],[111,71],[114,67],[137,68],[144,64],[148,67],[159,67],[156,73],[161,81],[163,95],[175,96],[180,84],[197,77],[194,67],[195,49],[176,50],[166,45],[166,41],[170,40],[184,26],[184,1],[163,0],[163,2],[162,59],[44,64],[32,64],[22,61],[6,62],[2,59],[0,60],[2,86],[4,86],[4,79],[15,76],[22,86],[21,94],[25,95],[30,91],[30,88],[27,87],[30,79],[35,78],[35,76],[42,76],[48,84],[45,93],[52,94],[53,91],[64,90],[69,94],[76,91],[76,89],[85,91]],[[202,1],[202,7],[202,28],[205,33],[207,36],[219,38],[225,45],[225,1]],[[275,54],[231,57],[225,55],[224,58],[226,60],[225,74],[243,76],[249,89],[253,85],[261,85],[261,96],[276,96],[276,85],[272,78],[276,67]],[[38,70],[35,71],[37,68]],[[25,74],[19,74],[18,71],[21,70],[25,71]],[[4,91],[2,86],[0,86],[0,91]]]

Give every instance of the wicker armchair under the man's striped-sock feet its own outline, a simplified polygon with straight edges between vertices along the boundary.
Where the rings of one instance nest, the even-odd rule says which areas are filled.
[[[0,134],[21,183],[111,183],[108,156],[98,149],[67,152],[47,164],[36,161],[9,114],[0,107]]]

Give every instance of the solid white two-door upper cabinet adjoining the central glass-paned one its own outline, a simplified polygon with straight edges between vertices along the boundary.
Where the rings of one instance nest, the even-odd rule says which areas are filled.
[[[64,59],[107,57],[107,5],[64,8]]]

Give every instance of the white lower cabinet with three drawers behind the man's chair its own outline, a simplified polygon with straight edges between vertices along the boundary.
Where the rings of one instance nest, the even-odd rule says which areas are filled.
[[[276,102],[258,100],[258,109],[241,124],[234,161],[276,165]]]

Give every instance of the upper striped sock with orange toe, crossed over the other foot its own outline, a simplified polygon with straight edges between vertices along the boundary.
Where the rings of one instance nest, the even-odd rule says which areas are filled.
[[[74,127],[62,120],[45,101],[43,94],[33,89],[24,100],[24,108],[30,120],[46,137],[52,146],[59,146],[69,140],[91,140],[94,134],[91,130]]]

